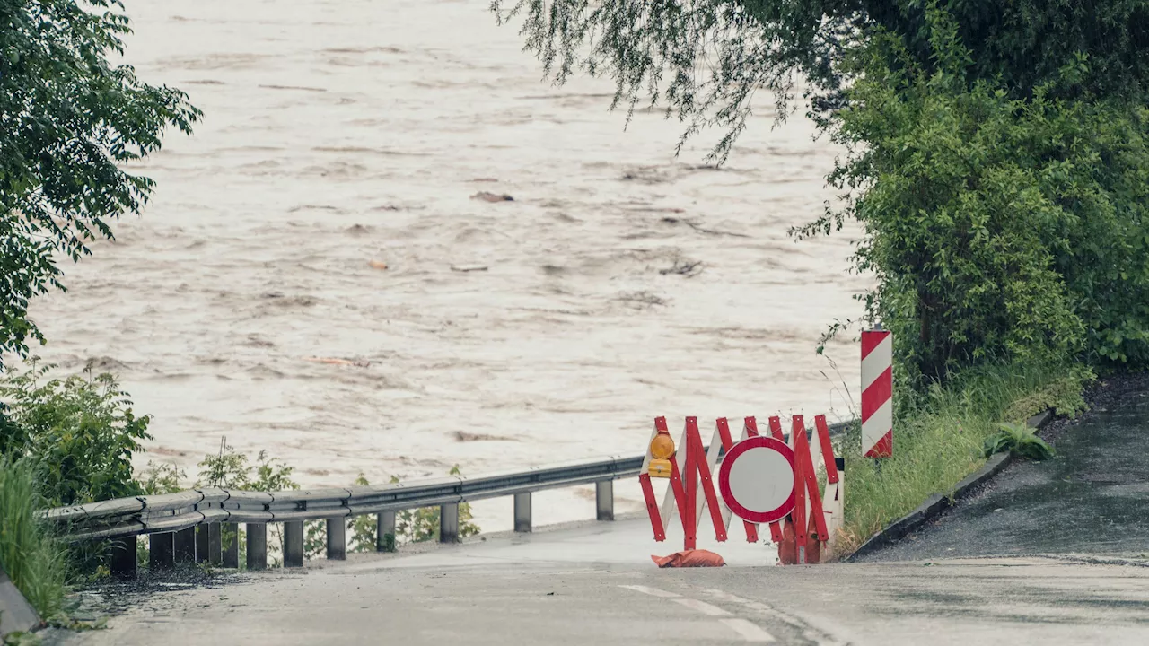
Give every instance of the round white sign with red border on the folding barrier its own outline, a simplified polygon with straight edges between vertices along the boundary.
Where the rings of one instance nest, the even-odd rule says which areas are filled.
[[[759,436],[735,444],[718,469],[718,490],[735,516],[772,523],[794,510],[794,451]]]

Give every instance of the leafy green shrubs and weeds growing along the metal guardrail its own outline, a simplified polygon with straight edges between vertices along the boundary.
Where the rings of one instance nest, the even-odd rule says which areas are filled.
[[[129,495],[162,494],[192,486],[248,491],[299,489],[294,468],[261,451],[254,459],[221,440],[203,456],[194,480],[176,464],[149,461],[132,468],[151,417],[137,415],[132,401],[113,375],[85,371],[64,379],[51,377],[52,367],[30,360],[23,370],[9,366],[0,374],[0,564],[43,617],[65,623],[64,598],[70,586],[108,576],[108,545],[65,545],[51,535],[38,512]],[[452,475],[458,474],[456,466]],[[392,476],[391,482],[399,482]],[[354,483],[370,484],[362,474]],[[322,555],[326,525],[306,528],[306,555]],[[269,526],[272,566],[283,552],[282,529]],[[479,532],[470,505],[460,505],[460,533]],[[396,514],[392,546],[434,540],[439,509]],[[347,520],[348,552],[376,551],[375,516]],[[240,566],[246,541],[239,540]],[[230,537],[225,537],[230,539]],[[278,551],[276,547],[278,546]],[[137,543],[137,560],[147,564],[147,539]]]

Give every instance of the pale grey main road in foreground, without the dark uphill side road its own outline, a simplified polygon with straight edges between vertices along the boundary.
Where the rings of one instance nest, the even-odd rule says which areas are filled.
[[[641,521],[154,592],[49,644],[1149,644],[1149,567],[1048,557],[660,570]],[[109,591],[115,598],[114,590]],[[122,600],[123,601],[123,600]]]

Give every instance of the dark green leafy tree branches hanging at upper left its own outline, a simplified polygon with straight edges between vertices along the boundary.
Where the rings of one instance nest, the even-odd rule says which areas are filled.
[[[44,341],[29,299],[63,287],[56,257],[78,261],[138,213],[153,182],[123,164],[160,148],[200,111],[131,66],[118,0],[0,0],[0,352]]]

